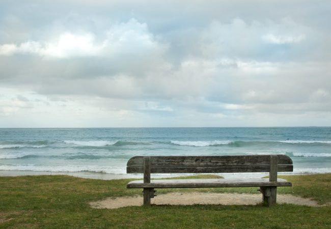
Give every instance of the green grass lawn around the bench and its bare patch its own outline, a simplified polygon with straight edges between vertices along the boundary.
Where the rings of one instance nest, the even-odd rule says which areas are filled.
[[[278,188],[331,202],[331,174],[281,176],[293,187]],[[190,177],[191,178],[191,177]],[[195,177],[197,178],[197,177]],[[204,177],[206,178],[206,177]],[[105,197],[141,195],[127,189],[130,179],[92,180],[69,176],[0,177],[0,228],[330,228],[331,207],[152,206],[92,209],[88,203]],[[158,189],[258,193],[257,188]]]

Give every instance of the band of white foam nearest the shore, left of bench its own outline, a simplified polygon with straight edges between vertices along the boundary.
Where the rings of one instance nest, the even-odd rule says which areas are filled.
[[[54,173],[60,172],[80,172],[90,171],[95,173],[106,173],[106,174],[126,174],[125,167],[106,167],[98,165],[65,165],[65,166],[44,166],[34,164],[17,164],[17,165],[0,165],[0,170],[9,171],[49,171]]]

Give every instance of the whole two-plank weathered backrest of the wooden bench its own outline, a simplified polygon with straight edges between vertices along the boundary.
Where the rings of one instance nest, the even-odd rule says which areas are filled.
[[[142,174],[145,168],[151,174],[252,173],[270,172],[272,167],[276,173],[293,171],[293,162],[286,155],[135,156],[127,162],[126,172]]]

